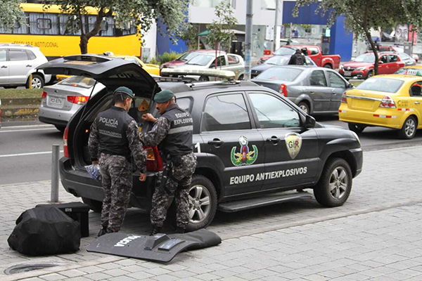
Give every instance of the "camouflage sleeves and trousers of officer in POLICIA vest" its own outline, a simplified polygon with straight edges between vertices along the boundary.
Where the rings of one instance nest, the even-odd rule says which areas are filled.
[[[100,155],[99,164],[104,190],[101,226],[107,230],[107,233],[115,233],[123,224],[129,204],[132,190],[132,164],[128,161],[128,157],[101,151],[101,130],[98,130],[97,126],[98,117],[91,125],[88,148],[93,158],[98,158]],[[134,119],[129,122],[122,134],[125,134],[127,138],[136,166],[141,173],[145,173],[146,152],[139,141],[139,128]]]

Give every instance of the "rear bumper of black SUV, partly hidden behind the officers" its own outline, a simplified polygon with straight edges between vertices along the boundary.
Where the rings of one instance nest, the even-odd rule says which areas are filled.
[[[89,176],[87,171],[79,171],[72,166],[69,158],[59,160],[60,181],[63,188],[75,197],[85,197],[102,202],[104,192],[101,183]],[[137,181],[132,188],[130,204],[132,207],[150,210],[155,186],[155,174],[147,176],[144,183]]]

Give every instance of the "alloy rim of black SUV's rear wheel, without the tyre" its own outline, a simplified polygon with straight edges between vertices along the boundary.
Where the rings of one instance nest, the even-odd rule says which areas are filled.
[[[204,185],[193,185],[189,190],[189,222],[202,223],[210,214],[211,195]]]

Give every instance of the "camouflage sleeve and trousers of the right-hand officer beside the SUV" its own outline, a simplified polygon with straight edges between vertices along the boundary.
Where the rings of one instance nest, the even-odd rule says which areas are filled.
[[[167,134],[170,131],[171,122],[160,117],[155,122],[153,129],[141,135],[141,141],[144,145],[156,146],[164,143]],[[163,159],[168,155],[163,152],[164,148],[160,148],[160,154]],[[170,165],[170,166],[167,166]],[[188,192],[191,186],[192,175],[196,168],[196,155],[189,152],[186,155],[173,156],[170,163],[166,164],[165,169],[169,170],[167,178],[162,177],[162,172],[158,176],[155,184],[155,192],[153,194],[151,210],[151,224],[153,226],[162,227],[167,216],[167,209],[170,207],[172,197],[177,206],[176,223],[178,227],[186,228],[189,222],[189,202]],[[160,188],[161,181],[167,181],[165,188]]]

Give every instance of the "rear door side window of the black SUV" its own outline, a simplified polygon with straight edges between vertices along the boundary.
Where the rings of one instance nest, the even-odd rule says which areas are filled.
[[[241,93],[212,96],[205,102],[201,130],[251,129],[248,109]]]

